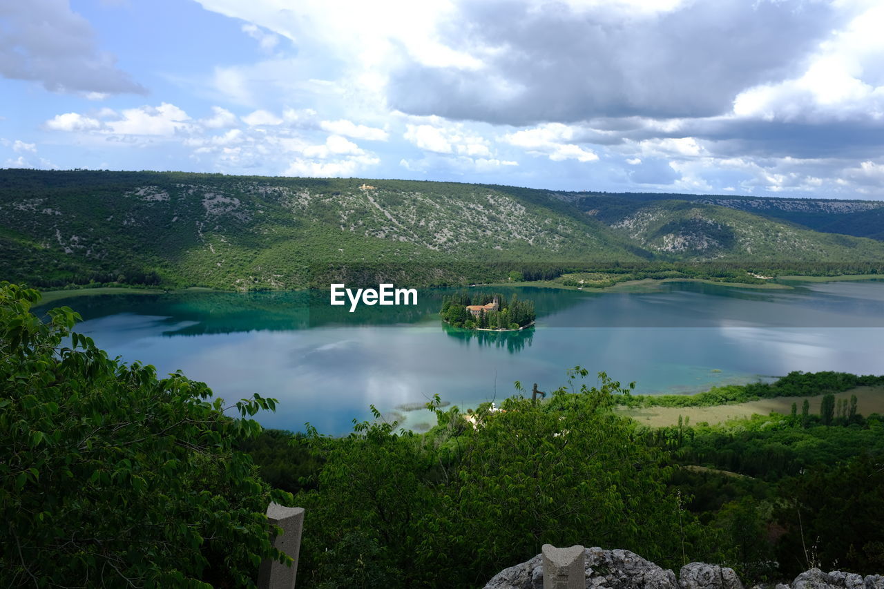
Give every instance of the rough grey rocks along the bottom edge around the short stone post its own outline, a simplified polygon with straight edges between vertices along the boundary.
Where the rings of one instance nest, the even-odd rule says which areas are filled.
[[[586,548],[586,589],[743,589],[733,569],[703,562],[682,567],[678,578],[629,550]],[[543,589],[542,555],[501,570],[484,589]],[[884,589],[884,576],[865,578],[838,570],[826,573],[811,569],[798,575],[791,585],[776,589]]]

